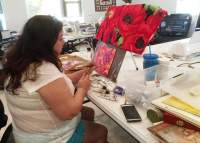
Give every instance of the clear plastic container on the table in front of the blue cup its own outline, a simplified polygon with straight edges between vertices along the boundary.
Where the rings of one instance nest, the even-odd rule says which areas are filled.
[[[160,84],[165,83],[170,77],[177,75],[175,70],[169,64],[158,64],[143,70],[127,73],[124,79],[129,78],[130,80],[123,80],[123,86],[126,87],[125,92],[128,99],[130,99],[130,102],[148,108],[151,101],[158,98],[161,93],[156,80],[159,80]],[[155,76],[153,79],[155,80],[146,82],[147,73],[153,73]]]

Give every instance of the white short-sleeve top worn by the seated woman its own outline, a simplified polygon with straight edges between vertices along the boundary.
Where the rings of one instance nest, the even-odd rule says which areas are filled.
[[[49,62],[43,62],[37,68],[37,74],[36,81],[22,82],[22,86],[17,89],[18,95],[5,90],[8,108],[13,118],[15,141],[16,143],[66,142],[79,123],[80,115],[72,120],[59,120],[37,90],[58,78],[64,78],[74,95],[72,81]]]

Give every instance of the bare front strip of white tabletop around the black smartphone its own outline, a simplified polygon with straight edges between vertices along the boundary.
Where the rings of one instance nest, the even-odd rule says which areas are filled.
[[[89,99],[101,110],[103,110],[109,117],[111,117],[117,124],[119,124],[124,130],[126,130],[131,136],[140,141],[141,143],[158,143],[153,135],[147,130],[147,127],[152,126],[150,121],[146,117],[145,109],[138,108],[142,122],[127,123],[126,119],[120,108],[121,104],[124,104],[124,98],[118,99],[117,102],[105,100],[97,97],[94,94],[89,95]]]

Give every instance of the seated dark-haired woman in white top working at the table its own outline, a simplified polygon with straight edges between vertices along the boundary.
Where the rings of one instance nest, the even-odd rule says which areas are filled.
[[[5,93],[17,143],[106,142],[104,126],[80,119],[89,75],[86,70],[69,76],[62,72],[58,56],[63,44],[60,21],[34,16],[6,55]]]

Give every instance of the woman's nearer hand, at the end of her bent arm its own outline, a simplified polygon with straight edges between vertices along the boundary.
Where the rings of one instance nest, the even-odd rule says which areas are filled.
[[[78,81],[78,88],[85,89],[88,91],[90,88],[91,80],[89,78],[89,74],[83,74],[80,80]]]

